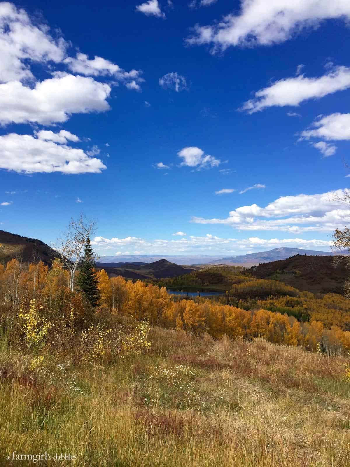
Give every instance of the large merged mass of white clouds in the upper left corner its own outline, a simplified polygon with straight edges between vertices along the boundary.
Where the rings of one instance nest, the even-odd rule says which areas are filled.
[[[125,71],[109,60],[98,56],[90,59],[83,53],[69,57],[71,45],[59,30],[51,33],[46,24],[30,18],[24,9],[0,3],[0,125],[52,125],[74,113],[105,112],[110,108],[107,99],[111,86],[118,82],[140,91],[144,81],[141,71]],[[39,81],[33,65],[35,69],[41,65],[51,78]],[[112,79],[106,84],[92,78],[97,76]],[[55,141],[60,142],[58,137]]]

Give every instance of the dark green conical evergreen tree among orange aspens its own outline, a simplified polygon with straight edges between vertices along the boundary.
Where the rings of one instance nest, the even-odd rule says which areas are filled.
[[[90,238],[87,237],[84,245],[84,255],[79,266],[80,274],[77,278],[77,290],[83,294],[87,302],[92,306],[97,306],[100,298],[95,267],[95,255],[91,248]]]

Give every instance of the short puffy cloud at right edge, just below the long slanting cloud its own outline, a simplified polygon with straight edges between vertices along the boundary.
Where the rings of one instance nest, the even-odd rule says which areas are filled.
[[[313,130],[301,133],[301,139],[322,138],[325,140],[350,140],[350,113],[332,113],[320,116],[312,124]]]

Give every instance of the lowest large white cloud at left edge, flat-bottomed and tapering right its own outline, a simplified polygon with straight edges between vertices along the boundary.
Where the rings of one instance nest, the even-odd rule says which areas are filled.
[[[100,173],[106,166],[82,149],[11,133],[0,136],[0,168],[25,173],[80,174]]]

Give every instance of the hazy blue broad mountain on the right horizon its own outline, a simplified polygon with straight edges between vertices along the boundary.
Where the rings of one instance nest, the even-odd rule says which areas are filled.
[[[210,261],[209,264],[227,264],[232,266],[254,266],[263,262],[285,260],[294,255],[307,256],[335,256],[349,255],[348,250],[342,250],[336,254],[331,251],[301,250],[300,248],[273,248],[269,251],[259,251],[248,255],[229,256]]]

